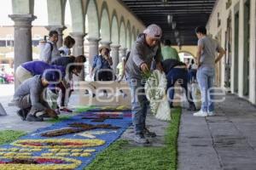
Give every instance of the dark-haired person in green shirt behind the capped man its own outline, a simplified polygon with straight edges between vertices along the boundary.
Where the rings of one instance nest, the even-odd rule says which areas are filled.
[[[161,53],[163,55],[163,60],[166,59],[177,59],[180,61],[179,56],[177,54],[177,49],[171,47],[171,41],[165,40],[163,43],[163,47],[161,48]]]

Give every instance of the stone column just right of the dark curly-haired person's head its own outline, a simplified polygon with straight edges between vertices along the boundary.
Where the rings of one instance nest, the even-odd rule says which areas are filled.
[[[79,55],[84,55],[84,36],[85,34],[82,32],[72,32],[70,35],[73,37],[73,39],[76,41],[76,43],[73,46],[73,55],[75,57]],[[84,81],[84,69],[81,71],[81,74],[79,75],[79,81]]]

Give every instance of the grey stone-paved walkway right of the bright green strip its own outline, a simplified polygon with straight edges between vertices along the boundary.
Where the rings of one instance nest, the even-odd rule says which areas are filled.
[[[256,108],[230,94],[216,113],[202,118],[183,111],[178,169],[256,169]]]

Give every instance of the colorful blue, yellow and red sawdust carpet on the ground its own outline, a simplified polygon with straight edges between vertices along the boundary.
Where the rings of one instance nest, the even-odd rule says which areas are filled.
[[[0,169],[83,169],[131,125],[131,111],[114,109],[90,107],[1,145]]]

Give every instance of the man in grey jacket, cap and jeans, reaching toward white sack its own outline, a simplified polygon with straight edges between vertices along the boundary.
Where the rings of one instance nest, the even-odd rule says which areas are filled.
[[[154,59],[156,67],[162,71],[160,64],[160,37],[162,30],[160,26],[150,25],[143,34],[137,37],[137,42],[131,48],[131,54],[125,65],[125,74],[131,88],[131,112],[132,123],[135,131],[135,142],[147,144],[148,139],[144,137],[155,137],[156,134],[149,132],[146,128],[146,116],[148,100],[145,95],[145,80],[143,75],[150,72],[151,63]]]

